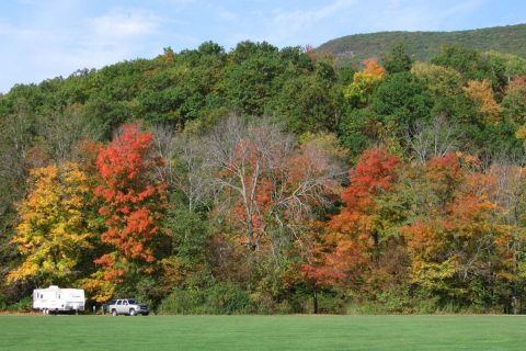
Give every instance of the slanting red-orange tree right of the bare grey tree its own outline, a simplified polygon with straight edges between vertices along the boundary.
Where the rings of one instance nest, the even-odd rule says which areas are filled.
[[[345,207],[329,222],[323,239],[313,246],[313,259],[304,265],[308,278],[355,285],[367,267],[377,264],[384,229],[377,197],[392,190],[399,165],[382,148],[363,152],[348,172],[351,184],[342,194]]]

